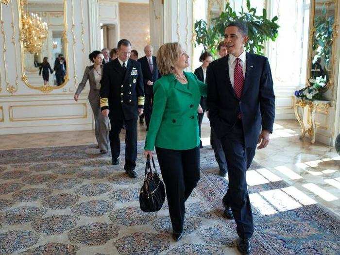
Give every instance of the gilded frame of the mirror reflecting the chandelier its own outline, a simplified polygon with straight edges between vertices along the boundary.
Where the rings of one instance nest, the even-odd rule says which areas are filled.
[[[66,67],[67,67],[67,72],[66,72],[66,75],[65,75],[65,82],[62,83],[61,85],[59,86],[51,86],[49,84],[46,84],[46,85],[41,85],[41,86],[34,86],[34,85],[31,85],[28,81],[28,78],[27,78],[27,75],[26,75],[26,72],[25,72],[25,54],[24,54],[24,45],[23,45],[23,41],[22,41],[22,23],[21,23],[21,14],[22,14],[22,8],[21,8],[21,1],[22,0],[17,0],[17,6],[18,6],[18,24],[19,24],[19,31],[20,31],[20,36],[19,36],[19,42],[20,42],[20,50],[21,50],[21,70],[22,70],[22,81],[24,82],[24,84],[26,86],[28,86],[29,88],[32,88],[32,89],[37,89],[37,90],[40,90],[44,93],[50,93],[52,90],[54,89],[60,89],[62,87],[64,87],[68,81],[69,81],[69,77],[68,77],[68,72],[69,72],[69,62],[68,62],[68,39],[67,39],[67,33],[68,33],[68,22],[67,22],[67,2],[66,0],[63,0],[63,6],[64,6],[64,32],[63,32],[63,41],[64,41],[64,44],[65,44],[65,59],[66,59]]]

